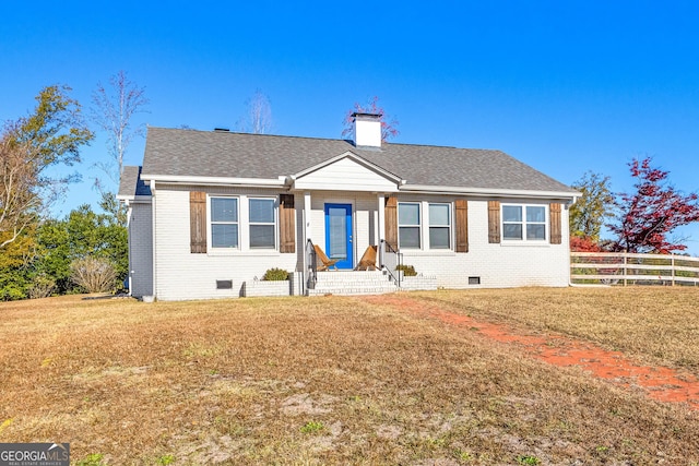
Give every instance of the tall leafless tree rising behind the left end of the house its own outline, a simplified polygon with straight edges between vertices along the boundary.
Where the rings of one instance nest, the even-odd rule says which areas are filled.
[[[95,164],[115,183],[119,183],[123,169],[123,156],[129,144],[144,134],[143,124],[133,124],[133,116],[144,112],[150,100],[145,88],[130,81],[125,71],[109,77],[109,85],[97,83],[92,96],[92,118],[108,135],[109,159]],[[103,191],[99,180],[97,188]]]

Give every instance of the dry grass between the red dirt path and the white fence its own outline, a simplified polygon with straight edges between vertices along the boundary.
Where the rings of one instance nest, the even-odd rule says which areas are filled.
[[[699,377],[697,288],[512,288],[419,297],[452,312],[564,333]]]

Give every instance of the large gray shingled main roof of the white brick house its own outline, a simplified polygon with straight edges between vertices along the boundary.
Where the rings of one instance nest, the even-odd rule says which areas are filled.
[[[149,128],[143,174],[276,179],[351,151],[410,184],[556,191],[570,187],[500,151]]]

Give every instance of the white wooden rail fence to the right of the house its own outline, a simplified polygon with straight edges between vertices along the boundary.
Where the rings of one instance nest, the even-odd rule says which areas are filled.
[[[626,252],[571,252],[570,282],[580,285],[697,286],[699,258]]]

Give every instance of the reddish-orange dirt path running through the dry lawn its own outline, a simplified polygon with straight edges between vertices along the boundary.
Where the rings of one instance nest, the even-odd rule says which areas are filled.
[[[578,366],[594,377],[624,387],[641,387],[648,396],[666,403],[687,403],[699,410],[699,381],[674,369],[639,365],[619,351],[591,343],[549,334],[526,335],[506,325],[448,312],[438,306],[400,295],[366,297],[377,304],[389,304],[413,315],[439,319],[451,325],[477,331],[484,337],[520,347],[529,356],[554,366]]]

